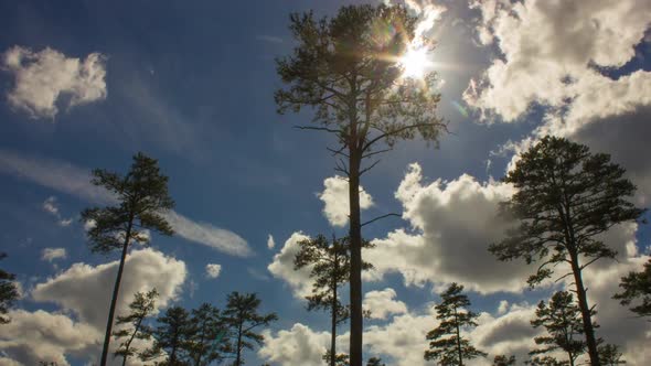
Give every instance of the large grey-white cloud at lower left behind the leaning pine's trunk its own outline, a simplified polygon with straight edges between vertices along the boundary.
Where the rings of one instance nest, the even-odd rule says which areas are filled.
[[[6,356],[0,363],[11,359],[35,365],[49,360],[68,365],[68,356],[93,363],[100,352],[111,295],[107,289],[113,289],[118,265],[75,263],[38,283],[31,292],[32,300],[58,304],[62,311],[12,311],[11,323],[0,334],[0,348]],[[127,313],[134,294],[152,288],[160,293],[154,310],[158,312],[177,299],[185,276],[183,261],[150,248],[131,251],[125,263],[116,313]]]

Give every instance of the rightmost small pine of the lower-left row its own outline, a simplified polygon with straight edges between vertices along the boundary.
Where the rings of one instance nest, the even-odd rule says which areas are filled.
[[[255,342],[262,345],[263,335],[255,333],[254,330],[259,326],[268,326],[271,322],[278,320],[276,313],[265,315],[258,314],[258,308],[262,300],[255,293],[241,294],[237,291],[231,292],[227,298],[226,309],[223,313],[223,321],[234,334],[235,366],[242,366],[242,349],[253,349]]]

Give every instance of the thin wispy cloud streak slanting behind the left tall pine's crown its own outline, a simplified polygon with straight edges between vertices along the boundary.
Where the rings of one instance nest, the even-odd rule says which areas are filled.
[[[67,162],[23,157],[0,150],[0,172],[18,176],[70,195],[98,204],[114,204],[115,197],[106,190],[90,184],[89,170]],[[253,254],[245,239],[237,234],[209,223],[198,223],[174,211],[167,219],[180,237],[239,257]],[[90,223],[88,223],[90,225]],[[86,225],[85,225],[86,226]]]

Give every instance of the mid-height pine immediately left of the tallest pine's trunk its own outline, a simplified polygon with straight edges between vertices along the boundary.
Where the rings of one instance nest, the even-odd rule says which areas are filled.
[[[349,319],[349,306],[341,303],[338,290],[350,278],[350,251],[348,238],[332,241],[323,235],[313,239],[299,241],[299,251],[294,258],[294,268],[301,269],[311,266],[310,278],[314,279],[312,294],[306,297],[308,311],[323,310],[330,312],[330,352],[337,355],[337,326]],[[370,247],[371,245],[364,245]],[[371,265],[364,263],[364,268]],[[329,363],[334,366],[337,360],[329,357]]]

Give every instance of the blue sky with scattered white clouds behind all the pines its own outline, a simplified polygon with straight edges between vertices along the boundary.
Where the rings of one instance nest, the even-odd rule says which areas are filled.
[[[381,1],[369,0],[378,4]],[[386,1],[387,3],[396,3]],[[352,1],[4,1],[0,2],[0,250],[21,299],[0,332],[0,365],[87,365],[100,353],[118,255],[92,254],[82,209],[110,203],[92,169],[126,172],[142,151],[159,160],[175,201],[177,234],[151,234],[126,262],[118,313],[156,287],[158,312],[225,304],[257,292],[279,321],[250,365],[320,365],[326,313],[310,313],[298,241],[346,230],[348,183],[326,150],[333,141],[279,116],[275,57],[292,52],[289,14],[331,17]],[[642,0],[408,0],[439,75],[439,147],[399,142],[362,180],[364,354],[387,365],[428,365],[425,334],[437,325],[437,292],[465,286],[479,326],[466,335],[489,358],[520,360],[537,334],[536,290],[523,262],[488,251],[509,223],[497,216],[513,189],[500,179],[545,134],[607,152],[651,200],[651,2]],[[649,258],[651,230],[613,227],[619,251],[585,271],[597,335],[629,365],[651,359],[651,323],[610,297],[618,279]],[[339,348],[346,352],[348,325]]]

